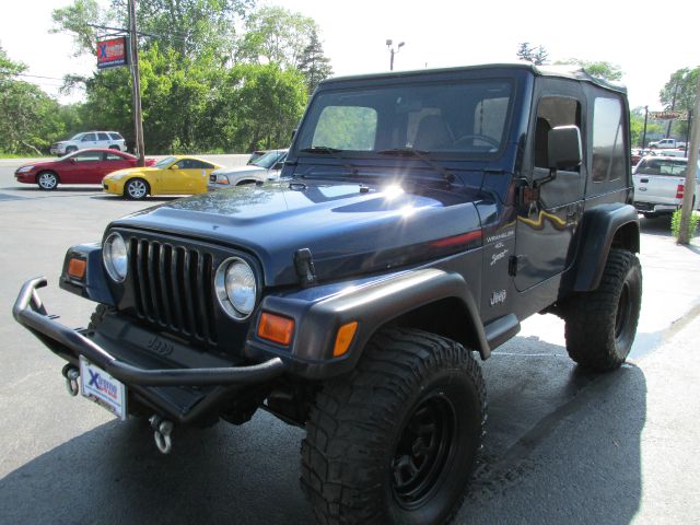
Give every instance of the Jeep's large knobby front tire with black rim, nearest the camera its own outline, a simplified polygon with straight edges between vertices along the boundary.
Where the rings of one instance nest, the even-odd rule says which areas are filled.
[[[301,483],[316,520],[450,522],[485,421],[486,386],[470,351],[418,330],[380,331],[355,369],[326,382],[312,407]]]

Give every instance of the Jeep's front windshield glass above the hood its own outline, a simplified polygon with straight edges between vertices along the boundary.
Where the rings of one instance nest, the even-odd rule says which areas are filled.
[[[296,151],[373,156],[410,149],[434,156],[494,156],[505,140],[512,90],[509,81],[469,81],[322,92]]]

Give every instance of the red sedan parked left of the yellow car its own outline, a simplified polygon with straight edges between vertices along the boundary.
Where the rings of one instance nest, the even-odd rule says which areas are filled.
[[[56,161],[33,162],[14,172],[18,183],[38,184],[42,189],[54,189],[58,184],[102,184],[105,175],[117,170],[135,167],[138,159],[116,150],[79,150]],[[145,165],[155,164],[147,159]]]

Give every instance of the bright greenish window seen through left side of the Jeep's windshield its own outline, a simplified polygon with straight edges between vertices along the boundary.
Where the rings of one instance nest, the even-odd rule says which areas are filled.
[[[328,106],[318,117],[312,145],[371,151],[376,138],[376,110],[362,106]]]

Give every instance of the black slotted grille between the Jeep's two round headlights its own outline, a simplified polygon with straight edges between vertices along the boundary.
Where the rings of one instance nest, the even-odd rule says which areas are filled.
[[[139,317],[188,338],[215,343],[213,255],[151,240],[131,238],[129,244]]]

